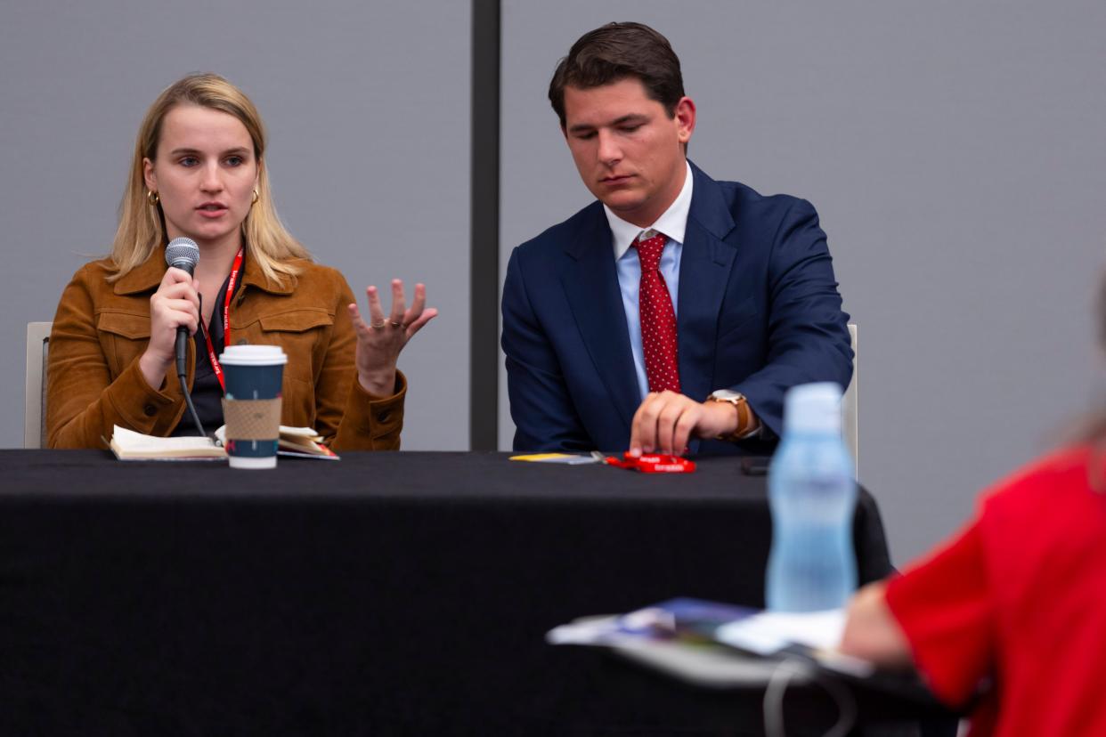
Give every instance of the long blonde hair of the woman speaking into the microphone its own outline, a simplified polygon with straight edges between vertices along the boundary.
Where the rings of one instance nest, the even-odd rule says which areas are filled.
[[[160,203],[150,204],[143,176],[143,159],[154,161],[161,137],[161,124],[169,110],[178,105],[198,105],[233,115],[242,122],[253,140],[258,161],[258,201],[242,222],[242,236],[248,257],[269,280],[283,282],[300,269],[291,259],[311,259],[307,250],[284,229],[269,188],[265,169],[265,129],[258,109],[246,94],[218,74],[189,74],[161,92],[146,112],[135,140],[134,159],[123,202],[119,204],[119,227],[112,244],[112,262],[117,270],[109,280],[122,278],[144,263],[157,249],[168,243],[165,214]]]

